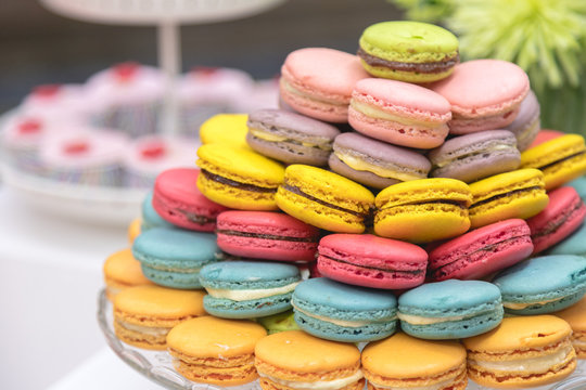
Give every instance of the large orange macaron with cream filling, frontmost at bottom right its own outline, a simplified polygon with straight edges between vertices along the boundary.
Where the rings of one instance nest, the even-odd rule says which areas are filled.
[[[553,384],[576,368],[572,328],[552,315],[509,317],[484,335],[462,340],[468,376],[489,388]]]

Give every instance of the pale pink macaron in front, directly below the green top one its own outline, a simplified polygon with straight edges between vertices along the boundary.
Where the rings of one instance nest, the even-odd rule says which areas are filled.
[[[368,78],[354,87],[348,123],[365,135],[395,145],[432,148],[448,134],[449,102],[420,86]]]

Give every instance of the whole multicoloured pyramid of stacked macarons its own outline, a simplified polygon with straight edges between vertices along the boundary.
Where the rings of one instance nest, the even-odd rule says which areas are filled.
[[[290,53],[280,93],[244,136],[208,132],[199,168],[163,172],[143,207],[132,253],[144,275],[203,287],[198,310],[212,315],[165,328],[181,375],[464,389],[574,370],[586,314],[556,313],[584,299],[586,247],[556,248],[579,242],[586,206],[568,183],[586,172],[586,146],[566,134],[531,147],[539,106],[519,66],[460,63],[451,32],[383,22],[357,55]],[[254,336],[239,343],[239,326]]]

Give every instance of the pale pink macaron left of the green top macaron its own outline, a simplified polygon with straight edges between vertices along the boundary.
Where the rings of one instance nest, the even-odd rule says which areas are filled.
[[[296,112],[334,123],[348,121],[352,90],[369,77],[353,54],[327,48],[291,52],[281,67],[280,96]]]

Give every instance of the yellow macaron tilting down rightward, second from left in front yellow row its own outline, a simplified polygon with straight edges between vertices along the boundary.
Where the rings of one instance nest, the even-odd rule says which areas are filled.
[[[288,214],[337,233],[362,233],[374,195],[358,183],[324,169],[291,165],[275,196]]]

